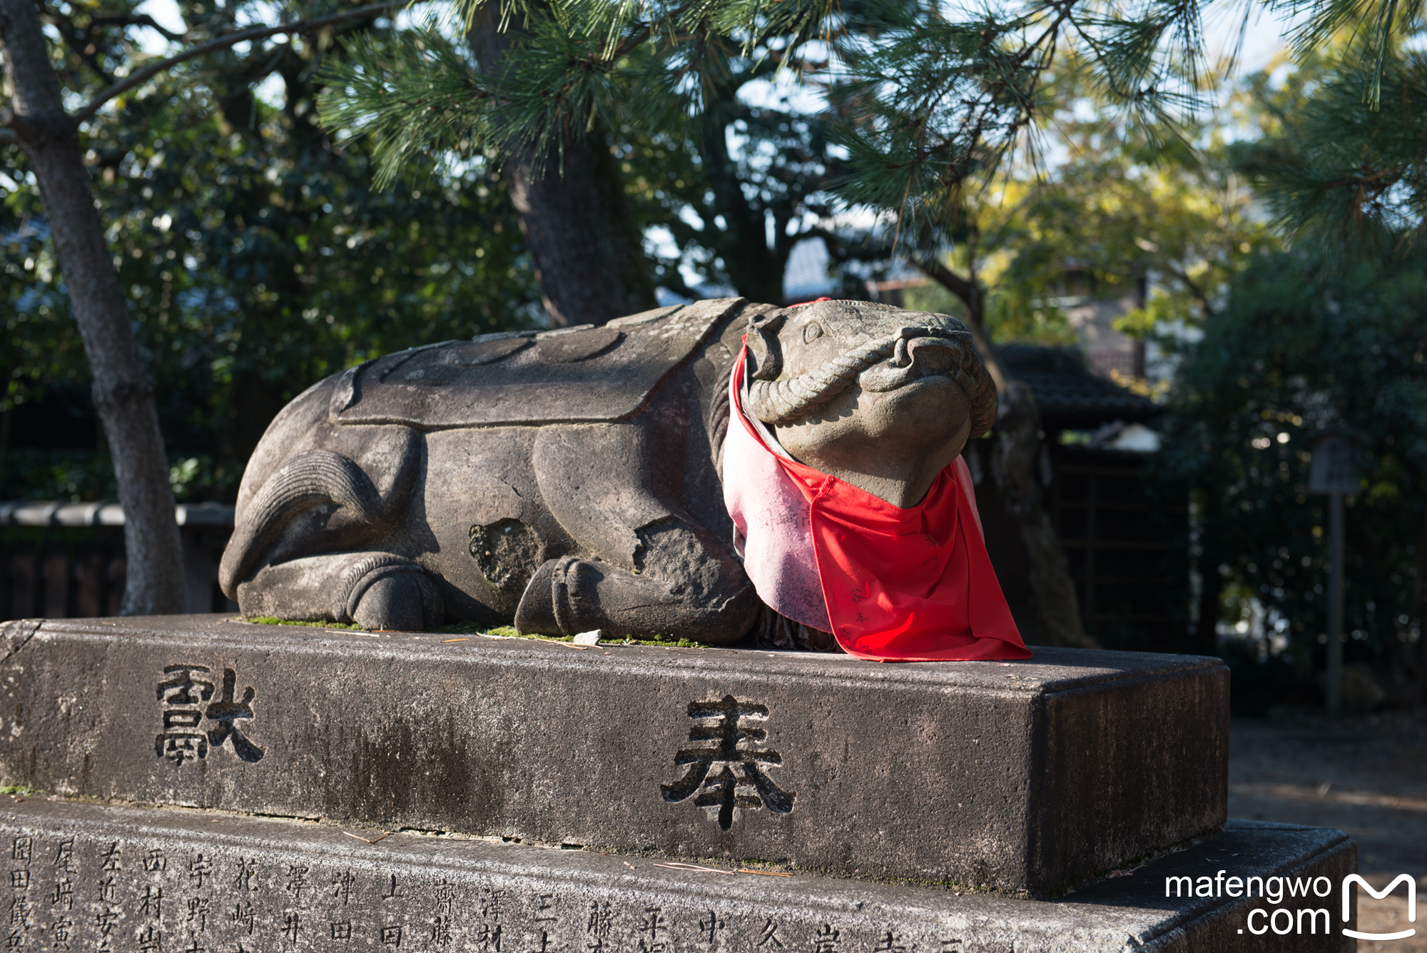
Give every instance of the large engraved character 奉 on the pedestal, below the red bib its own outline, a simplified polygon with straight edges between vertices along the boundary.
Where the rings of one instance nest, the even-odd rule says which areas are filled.
[[[768,732],[752,723],[768,720],[766,705],[725,695],[718,702],[689,702],[688,713],[698,722],[689,740],[714,745],[685,748],[674,756],[674,763],[688,765],[688,770],[672,785],[659,785],[665,800],[694,797],[723,830],[733,826],[735,807],[768,807],[781,815],[793,809],[796,795],[775,785],[766,772],[783,759],[766,748]]]

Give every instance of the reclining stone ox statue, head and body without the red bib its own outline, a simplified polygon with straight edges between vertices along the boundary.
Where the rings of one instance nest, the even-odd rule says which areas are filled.
[[[721,486],[745,335],[751,412],[798,459],[898,506],[996,408],[955,318],[856,301],[791,314],[699,301],[320,381],[248,459],[220,585],[247,618],[738,642],[771,618]]]

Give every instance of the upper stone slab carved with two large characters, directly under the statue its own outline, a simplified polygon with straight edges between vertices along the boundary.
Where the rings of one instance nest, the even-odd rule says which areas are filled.
[[[1226,817],[1219,659],[869,665],[221,616],[11,626],[0,779],[67,795],[1033,895]]]

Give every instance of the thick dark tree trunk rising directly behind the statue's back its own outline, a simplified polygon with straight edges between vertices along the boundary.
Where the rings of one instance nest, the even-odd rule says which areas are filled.
[[[499,16],[501,4],[485,4],[469,36],[491,78],[499,78],[505,51],[522,36],[519,17],[502,33]],[[599,123],[562,150],[551,147],[538,175],[534,160],[509,161],[505,174],[551,327],[604,324],[655,307],[644,240]]]

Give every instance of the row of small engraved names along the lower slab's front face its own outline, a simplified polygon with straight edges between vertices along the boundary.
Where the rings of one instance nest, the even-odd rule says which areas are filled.
[[[722,723],[716,716],[714,726]],[[221,837],[4,830],[0,953],[958,953],[975,946],[940,923],[935,934],[905,924],[859,927],[826,910],[801,916],[756,900],[631,887],[614,883],[614,873],[608,889],[567,893],[565,882],[478,866],[382,866],[361,855]]]

